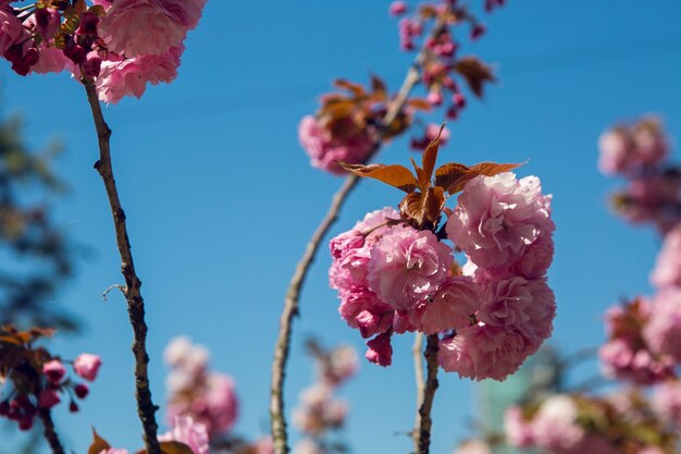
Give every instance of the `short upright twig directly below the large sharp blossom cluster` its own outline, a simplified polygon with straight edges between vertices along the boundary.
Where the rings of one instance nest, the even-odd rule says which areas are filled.
[[[437,334],[431,334],[428,336],[428,343],[425,345],[425,364],[428,370],[428,378],[425,385],[421,388],[421,395],[419,401],[421,406],[417,412],[417,422],[413,427],[413,446],[417,454],[428,454],[431,446],[431,428],[433,420],[431,418],[431,408],[433,408],[433,400],[435,398],[435,391],[437,390],[437,349],[438,349]]]

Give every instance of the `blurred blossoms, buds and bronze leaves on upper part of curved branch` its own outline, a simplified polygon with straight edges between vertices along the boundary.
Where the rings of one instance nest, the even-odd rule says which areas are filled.
[[[391,5],[394,15],[407,12],[408,7],[404,2]],[[311,164],[343,174],[338,161],[366,162],[383,140],[405,133],[413,124],[422,124],[423,134],[411,138],[411,147],[423,150],[437,136],[439,126],[424,124],[418,118],[419,112],[443,108],[447,118],[454,120],[467,103],[457,79],[463,81],[479,98],[483,95],[484,85],[494,81],[487,65],[474,57],[459,54],[460,45],[455,32],[467,24],[472,27],[472,39],[480,37],[484,30],[466,7],[450,0],[422,3],[413,16],[403,19],[399,23],[401,47],[407,51],[419,49],[417,77],[423,83],[426,95],[407,96],[404,106],[387,118],[392,103],[400,94],[389,95],[381,77],[373,75],[369,87],[350,81],[336,81],[335,85],[340,90],[323,95],[317,113],[306,115],[298,127],[300,144]],[[428,38],[423,38],[424,35]],[[441,134],[443,143],[447,134]]]

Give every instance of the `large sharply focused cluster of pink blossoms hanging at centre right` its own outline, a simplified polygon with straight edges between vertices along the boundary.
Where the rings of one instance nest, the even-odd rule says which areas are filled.
[[[340,316],[363,338],[367,358],[392,363],[391,336],[441,334],[438,363],[476,380],[504,380],[553,330],[555,297],[550,196],[536,177],[476,176],[466,184],[446,234],[454,249],[391,208],[374,211],[331,241],[330,284]]]

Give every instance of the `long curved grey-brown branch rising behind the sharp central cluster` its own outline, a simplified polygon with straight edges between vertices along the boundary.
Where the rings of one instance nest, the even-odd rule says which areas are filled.
[[[445,25],[438,23],[432,30],[432,35],[436,36],[442,33]],[[379,137],[374,143],[374,147],[369,152],[363,163],[369,162],[381,148],[384,135],[389,131],[391,124],[397,119],[399,113],[405,107],[405,103],[409,99],[409,95],[413,87],[421,81],[421,64],[425,60],[429,49],[424,46],[419,52],[414,62],[409,70],[403,82],[399,91],[391,101],[387,111],[383,118],[383,122],[380,128]],[[300,291],[305,279],[310,270],[314,256],[319,250],[322,240],[326,236],[326,233],[331,226],[338,219],[340,208],[346,201],[349,194],[359,183],[359,177],[355,174],[350,174],[345,179],[343,186],[334,194],[331,206],[326,216],[322,219],[312,237],[308,242],[305,248],[302,258],[296,266],[294,275],[288,284],[286,297],[284,298],[284,309],[280,319],[280,331],[274,345],[274,359],[272,361],[272,384],[270,388],[270,424],[272,429],[272,441],[274,443],[275,454],[287,454],[288,449],[288,435],[286,433],[286,417],[284,415],[284,379],[286,375],[286,363],[288,361],[288,354],[290,351],[290,335],[294,317],[298,316],[298,307],[300,299]]]

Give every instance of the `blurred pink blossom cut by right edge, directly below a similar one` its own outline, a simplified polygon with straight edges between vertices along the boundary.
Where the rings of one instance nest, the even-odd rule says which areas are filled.
[[[681,289],[667,289],[655,296],[643,336],[652,351],[681,361]]]

